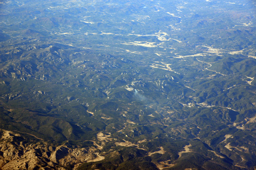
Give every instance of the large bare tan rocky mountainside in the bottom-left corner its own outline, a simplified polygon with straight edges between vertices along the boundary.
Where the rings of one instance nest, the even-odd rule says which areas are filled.
[[[62,144],[54,147],[47,142],[29,143],[20,134],[0,130],[0,169],[65,170],[75,164],[95,159],[96,147],[79,148]]]

